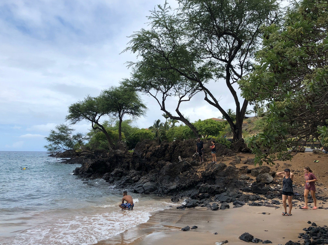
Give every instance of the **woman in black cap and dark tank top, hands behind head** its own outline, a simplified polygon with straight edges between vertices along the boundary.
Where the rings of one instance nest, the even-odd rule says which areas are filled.
[[[284,206],[285,212],[282,212],[282,215],[284,216],[291,216],[292,215],[292,208],[293,208],[293,203],[292,203],[292,198],[294,195],[294,190],[293,190],[293,179],[294,179],[294,174],[290,172],[289,168],[286,168],[282,172],[276,173],[277,176],[283,177],[282,179],[282,204]],[[287,213],[287,198],[288,198],[288,208],[289,212]]]

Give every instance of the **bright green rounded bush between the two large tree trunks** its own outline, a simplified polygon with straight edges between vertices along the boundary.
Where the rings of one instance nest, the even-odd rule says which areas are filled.
[[[203,137],[208,138],[208,136],[219,136],[220,133],[225,128],[227,123],[224,122],[217,122],[213,119],[207,119],[201,121],[200,119],[194,123],[195,127],[197,128],[200,135]]]

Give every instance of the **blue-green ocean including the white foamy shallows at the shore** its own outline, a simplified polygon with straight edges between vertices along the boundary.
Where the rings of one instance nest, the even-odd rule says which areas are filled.
[[[94,244],[174,206],[169,198],[128,193],[134,208],[123,211],[123,190],[73,175],[79,166],[47,152],[0,151],[0,244]]]

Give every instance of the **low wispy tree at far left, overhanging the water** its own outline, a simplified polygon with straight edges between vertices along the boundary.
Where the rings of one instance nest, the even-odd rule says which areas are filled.
[[[81,133],[73,134],[74,131],[75,129],[66,124],[55,126],[55,129],[50,131],[49,136],[45,137],[49,144],[44,147],[53,154],[70,151],[72,155],[76,156],[81,152],[89,152],[84,147],[84,142],[89,137]]]

